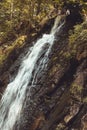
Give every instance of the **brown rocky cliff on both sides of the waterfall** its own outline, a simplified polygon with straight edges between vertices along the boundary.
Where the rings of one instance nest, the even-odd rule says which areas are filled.
[[[53,24],[53,19],[50,24]],[[41,74],[43,76],[38,77],[37,87],[31,89],[31,100],[26,99],[21,115],[23,120],[19,126],[16,123],[14,130],[87,129],[87,22],[77,23],[66,17],[62,30],[56,33],[47,69]],[[42,28],[38,35],[51,26],[47,21],[44,31]],[[25,38],[22,36],[16,40],[15,47],[11,45],[11,48],[9,44],[9,53],[4,49],[6,57],[0,59],[1,96],[12,80],[10,77],[15,77],[27,47],[32,45],[29,39],[26,40],[28,45],[24,45]]]

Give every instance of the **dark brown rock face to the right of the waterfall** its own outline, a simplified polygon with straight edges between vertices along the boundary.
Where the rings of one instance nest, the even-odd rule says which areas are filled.
[[[22,120],[16,123],[14,130],[87,129],[87,39],[79,37],[80,46],[77,44],[77,52],[72,55],[70,29],[72,23],[66,21],[61,32],[56,33],[47,70],[38,79],[36,88],[31,89],[31,100],[26,93]],[[9,72],[14,71],[15,66]]]

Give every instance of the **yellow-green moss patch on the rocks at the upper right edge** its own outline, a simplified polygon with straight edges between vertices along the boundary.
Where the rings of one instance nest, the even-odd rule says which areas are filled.
[[[71,59],[72,57],[79,56],[82,53],[82,48],[86,47],[87,43],[87,22],[80,25],[76,25],[74,30],[69,32],[69,43],[66,52],[61,51],[60,54],[65,59]],[[84,49],[83,49],[84,51]]]

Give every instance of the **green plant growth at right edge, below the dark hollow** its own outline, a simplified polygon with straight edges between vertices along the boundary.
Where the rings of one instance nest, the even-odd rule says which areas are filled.
[[[74,31],[70,31],[69,36],[69,52],[71,56],[77,56],[80,60],[81,57],[86,57],[87,44],[87,22],[83,22],[80,25],[74,27]]]

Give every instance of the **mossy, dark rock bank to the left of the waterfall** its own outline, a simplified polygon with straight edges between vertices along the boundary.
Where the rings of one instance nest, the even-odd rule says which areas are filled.
[[[17,73],[22,58],[27,54],[32,43],[43,33],[49,33],[54,24],[53,18],[44,18],[36,28],[32,28],[27,35],[0,45],[0,98],[7,84]]]

